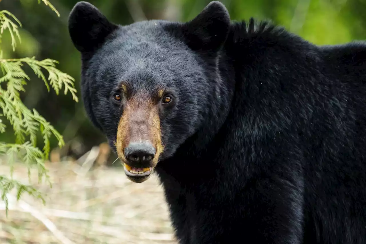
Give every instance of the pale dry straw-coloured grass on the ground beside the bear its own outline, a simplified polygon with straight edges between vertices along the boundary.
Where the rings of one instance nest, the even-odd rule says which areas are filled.
[[[90,169],[96,159],[92,154],[93,149],[82,167],[47,163],[53,186],[38,185],[46,193],[46,206],[23,195],[18,203],[10,201],[6,218],[0,205],[0,243],[176,244],[156,175],[132,183],[121,169]],[[1,165],[0,172],[9,169]],[[36,171],[31,175],[37,182]],[[15,167],[14,178],[27,183],[26,169]]]

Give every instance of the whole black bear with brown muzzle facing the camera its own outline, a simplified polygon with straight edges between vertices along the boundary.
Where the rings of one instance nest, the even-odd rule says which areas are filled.
[[[120,26],[79,2],[82,98],[181,244],[366,243],[366,44],[313,45],[218,1]]]

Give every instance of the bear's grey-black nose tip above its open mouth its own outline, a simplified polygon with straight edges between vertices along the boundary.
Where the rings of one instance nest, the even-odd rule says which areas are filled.
[[[128,165],[132,167],[149,167],[150,162],[155,155],[155,148],[149,142],[143,143],[130,143],[128,147],[124,149],[124,156],[126,156]]]

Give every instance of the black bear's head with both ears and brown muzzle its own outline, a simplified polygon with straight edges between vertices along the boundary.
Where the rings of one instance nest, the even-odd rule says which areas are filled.
[[[87,114],[130,180],[145,181],[204,123],[207,70],[216,66],[228,27],[228,13],[218,2],[188,23],[117,26],[85,2],[71,11],[69,32],[82,54]]]

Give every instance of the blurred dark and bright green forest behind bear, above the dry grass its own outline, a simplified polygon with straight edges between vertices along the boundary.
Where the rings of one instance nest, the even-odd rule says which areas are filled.
[[[80,55],[71,43],[67,18],[77,0],[50,0],[61,17],[37,0],[0,0],[0,8],[12,12],[23,24],[22,43],[16,52],[10,46],[8,32],[4,33],[1,49],[5,58],[36,56],[38,60],[58,60],[57,66],[75,78],[80,97]],[[194,18],[209,0],[89,0],[112,22],[128,25],[145,19],[188,21]],[[222,0],[233,20],[254,17],[270,19],[314,44],[341,44],[366,39],[366,0]],[[63,156],[75,158],[100,144],[105,137],[96,130],[83,108],[71,95],[47,92],[44,83],[25,68],[31,80],[22,99],[27,107],[36,108],[63,134],[67,146]],[[54,139],[54,138],[53,138]],[[0,140],[13,141],[11,126]],[[41,140],[40,140],[41,141]],[[40,145],[42,147],[42,145]],[[52,146],[57,147],[56,140]],[[112,155],[112,161],[116,157]]]

